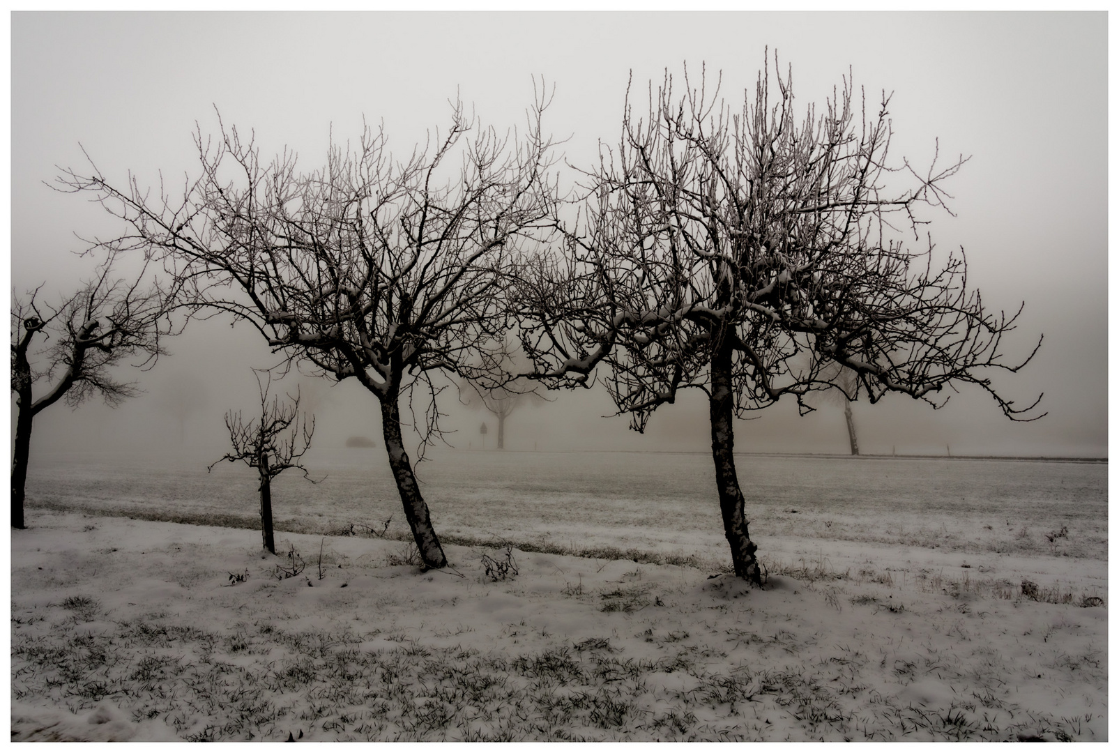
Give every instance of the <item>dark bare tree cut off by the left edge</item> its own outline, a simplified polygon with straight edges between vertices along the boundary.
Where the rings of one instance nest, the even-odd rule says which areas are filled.
[[[35,417],[58,401],[76,408],[101,395],[110,406],[140,393],[122,382],[115,366],[150,368],[163,354],[161,338],[175,332],[173,295],[148,265],[130,277],[115,276],[119,250],[110,250],[77,291],[44,300],[46,283],[25,295],[12,291],[11,390],[16,394],[16,444],[11,468],[11,525],[23,528],[23,489]],[[36,350],[36,348],[39,348]]]

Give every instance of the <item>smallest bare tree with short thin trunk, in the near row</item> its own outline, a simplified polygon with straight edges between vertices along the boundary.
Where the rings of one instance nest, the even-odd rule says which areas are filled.
[[[224,460],[231,463],[241,461],[256,469],[261,480],[261,535],[264,548],[275,554],[275,537],[272,531],[272,479],[289,468],[298,468],[303,471],[304,479],[318,483],[300,462],[300,458],[311,446],[314,416],[311,416],[311,423],[308,425],[307,414],[299,412],[298,389],[294,397],[288,396],[291,403],[281,403],[279,396],[273,396],[270,403],[272,374],[269,373],[267,380],[263,384],[260,374],[255,376],[261,393],[260,417],[245,423],[241,411],[227,412],[225,426],[229,430],[233,452],[227,452],[222,460],[210,463],[206,470],[214,470],[214,467]]]

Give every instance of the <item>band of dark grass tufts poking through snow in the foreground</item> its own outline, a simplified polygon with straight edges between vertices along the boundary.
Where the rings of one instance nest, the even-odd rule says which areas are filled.
[[[49,609],[92,609],[91,601],[74,597]],[[1021,718],[998,686],[969,693],[958,676],[966,703],[947,708],[881,695],[853,706],[867,691],[859,674],[868,658],[843,647],[816,658],[781,633],[739,630],[731,639],[784,649],[783,668],[742,663],[708,672],[704,657],[724,655],[687,641],[684,632],[670,636],[678,653],[657,660],[627,657],[604,637],[509,659],[426,644],[403,631],[395,634],[396,648],[363,650],[369,637],[346,629],[239,622],[207,630],[151,619],[90,636],[75,633],[73,622],[59,624],[51,634],[13,633],[15,699],[74,710],[117,704],[137,721],[163,718],[191,741],[279,741],[304,732],[311,740],[355,741],[765,740],[767,718],[774,715],[794,719],[803,738],[1078,740],[1091,721]],[[1053,657],[1053,666],[1066,671],[1092,662],[1093,671],[1106,671],[1098,651]],[[1005,669],[991,666],[993,674]],[[948,667],[930,656],[899,659],[894,670],[910,683]],[[685,683],[667,686],[660,679],[666,674],[684,674]]]

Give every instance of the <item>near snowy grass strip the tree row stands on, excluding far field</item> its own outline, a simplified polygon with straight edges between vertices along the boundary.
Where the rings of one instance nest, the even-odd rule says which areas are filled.
[[[1060,584],[84,525],[13,536],[13,738],[48,712],[86,725],[55,738],[1107,738],[1107,606]]]

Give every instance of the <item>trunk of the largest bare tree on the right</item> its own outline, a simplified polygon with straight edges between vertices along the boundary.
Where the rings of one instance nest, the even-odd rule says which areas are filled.
[[[715,459],[715,483],[723,512],[723,529],[731,545],[734,574],[761,584],[758,546],[750,540],[745,499],[734,468],[734,389],[731,384],[731,349],[716,346],[711,359],[711,452]]]

